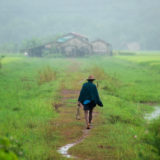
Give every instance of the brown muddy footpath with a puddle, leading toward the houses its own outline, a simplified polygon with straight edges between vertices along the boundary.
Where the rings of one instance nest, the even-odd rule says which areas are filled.
[[[56,129],[64,137],[62,145],[57,148],[57,152],[65,158],[81,159],[76,155],[71,155],[69,149],[81,143],[90,135],[94,128],[86,129],[83,109],[80,109],[80,120],[76,119],[77,99],[84,81],[84,75],[80,74],[80,63],[70,60],[71,65],[66,69],[66,79],[61,84],[59,104],[53,104],[54,109],[59,113],[59,118],[54,124]],[[98,111],[93,112],[93,124],[98,117]]]

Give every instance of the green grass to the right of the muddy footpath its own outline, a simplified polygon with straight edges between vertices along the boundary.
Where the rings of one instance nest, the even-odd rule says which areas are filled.
[[[135,56],[129,57],[132,58]],[[143,60],[145,56],[136,58]],[[160,102],[158,66],[153,69],[121,57],[84,61],[99,68],[94,70],[101,77],[98,81],[104,108],[91,136],[70,152],[82,159],[158,160],[157,145],[144,140],[146,136],[153,136],[153,130],[147,129],[144,114],[153,110],[150,105]],[[152,141],[157,140],[153,137]]]

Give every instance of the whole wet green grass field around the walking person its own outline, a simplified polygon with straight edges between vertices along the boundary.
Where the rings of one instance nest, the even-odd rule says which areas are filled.
[[[9,56],[1,63],[0,136],[19,141],[23,152],[19,159],[66,159],[57,149],[81,136],[84,120],[68,116],[74,117],[76,98],[68,99],[71,104],[60,112],[53,104],[61,102],[64,89],[80,90],[89,74],[97,78],[104,107],[96,108],[99,116],[89,136],[69,152],[82,160],[160,159],[160,120],[148,123],[144,119],[160,104],[159,55]],[[53,123],[60,126],[53,127]]]

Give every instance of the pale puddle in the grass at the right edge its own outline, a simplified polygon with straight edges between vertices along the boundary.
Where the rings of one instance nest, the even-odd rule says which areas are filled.
[[[144,118],[147,120],[152,120],[158,117],[160,117],[160,106],[155,106],[154,111],[152,113],[147,113]]]

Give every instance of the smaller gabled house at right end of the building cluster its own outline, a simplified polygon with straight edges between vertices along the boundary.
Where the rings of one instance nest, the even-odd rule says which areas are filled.
[[[95,40],[91,42],[93,53],[95,54],[107,54],[112,55],[112,46],[103,41],[103,40]]]

